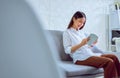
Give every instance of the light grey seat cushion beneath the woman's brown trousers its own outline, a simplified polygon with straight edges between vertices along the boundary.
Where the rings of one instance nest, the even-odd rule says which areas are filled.
[[[66,72],[67,76],[80,76],[103,73],[103,68],[91,66],[75,65],[71,61],[61,62],[60,67]]]

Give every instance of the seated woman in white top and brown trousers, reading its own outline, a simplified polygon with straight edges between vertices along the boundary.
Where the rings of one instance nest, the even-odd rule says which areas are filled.
[[[120,63],[118,58],[113,54],[103,54],[94,52],[97,41],[88,46],[88,35],[82,31],[86,22],[86,15],[77,11],[66,31],[63,33],[63,45],[65,52],[70,54],[73,62],[77,65],[94,66],[104,69],[104,78],[120,77]]]

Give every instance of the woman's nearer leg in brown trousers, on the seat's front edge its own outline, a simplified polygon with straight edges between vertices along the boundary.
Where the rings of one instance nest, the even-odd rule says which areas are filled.
[[[76,61],[75,64],[104,68],[104,78],[117,78],[117,70],[112,59],[92,56],[84,61]]]

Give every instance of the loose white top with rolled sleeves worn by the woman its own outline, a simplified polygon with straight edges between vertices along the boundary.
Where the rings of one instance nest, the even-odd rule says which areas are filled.
[[[85,60],[91,56],[100,56],[101,53],[94,53],[92,49],[86,44],[80,47],[75,52],[71,53],[71,47],[79,44],[84,38],[89,35],[84,33],[82,30],[75,30],[73,28],[67,29],[63,33],[63,46],[66,54],[70,54],[75,63],[77,60]]]

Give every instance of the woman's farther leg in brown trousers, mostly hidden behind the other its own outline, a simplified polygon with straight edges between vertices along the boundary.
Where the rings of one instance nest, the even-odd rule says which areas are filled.
[[[118,76],[120,77],[120,62],[119,62],[118,58],[113,54],[104,54],[104,55],[102,55],[102,57],[111,58],[115,62],[117,73],[118,73]]]

